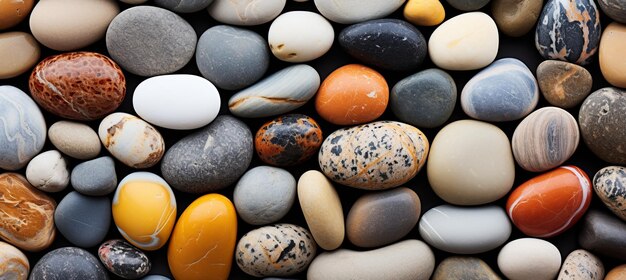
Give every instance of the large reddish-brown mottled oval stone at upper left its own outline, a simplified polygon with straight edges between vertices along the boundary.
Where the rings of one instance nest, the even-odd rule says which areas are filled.
[[[73,120],[100,119],[115,111],[126,95],[122,69],[93,52],[50,56],[37,64],[28,84],[39,106]]]

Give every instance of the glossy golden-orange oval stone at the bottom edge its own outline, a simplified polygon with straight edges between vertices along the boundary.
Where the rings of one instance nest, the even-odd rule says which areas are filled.
[[[192,202],[178,219],[167,250],[176,279],[228,279],[237,242],[237,214],[220,194]]]

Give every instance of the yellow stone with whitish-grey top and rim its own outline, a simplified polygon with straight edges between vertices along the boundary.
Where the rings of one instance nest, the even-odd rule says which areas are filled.
[[[122,236],[142,250],[158,250],[176,220],[176,197],[156,174],[135,172],[122,179],[112,204],[113,220]]]

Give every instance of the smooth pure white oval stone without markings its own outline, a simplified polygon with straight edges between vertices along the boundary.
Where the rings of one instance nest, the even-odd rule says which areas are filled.
[[[220,111],[220,95],[206,79],[188,74],[143,80],[133,94],[137,115],[156,126],[195,129],[212,122]]]

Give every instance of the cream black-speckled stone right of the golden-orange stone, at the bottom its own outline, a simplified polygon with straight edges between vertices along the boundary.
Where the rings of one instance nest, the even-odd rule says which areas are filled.
[[[235,261],[243,272],[252,276],[291,276],[307,269],[316,250],[317,244],[307,229],[276,224],[241,237],[235,249]]]

